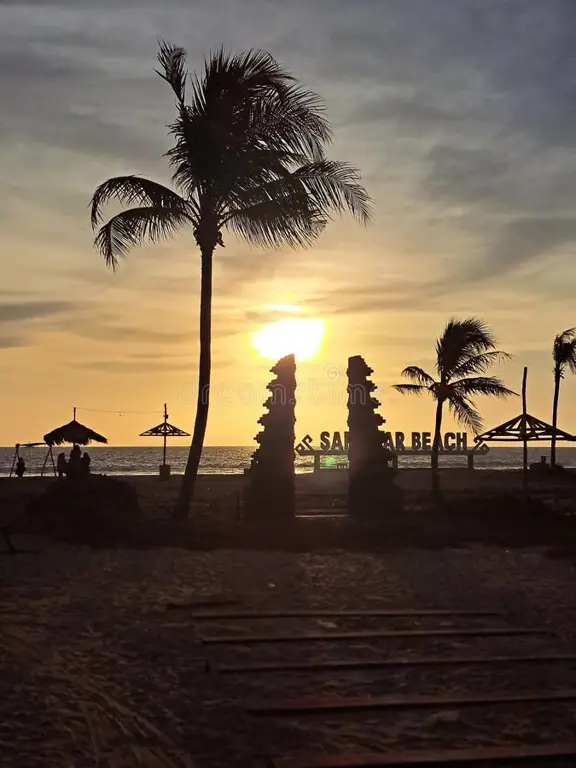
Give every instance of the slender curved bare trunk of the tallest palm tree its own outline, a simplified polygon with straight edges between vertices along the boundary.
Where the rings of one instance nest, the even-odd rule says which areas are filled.
[[[204,446],[210,403],[210,369],[212,342],[212,255],[213,248],[202,249],[202,283],[200,289],[200,362],[198,366],[198,401],[192,443],[184,478],[176,503],[175,517],[185,520],[194,498],[198,466]]]

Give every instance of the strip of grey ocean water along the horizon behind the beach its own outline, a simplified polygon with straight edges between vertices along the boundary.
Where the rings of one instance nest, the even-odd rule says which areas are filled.
[[[70,448],[66,449],[68,453]],[[241,474],[244,467],[250,463],[253,447],[207,447],[202,454],[200,473],[204,475]],[[109,448],[90,446],[88,452],[92,459],[92,471],[107,475],[156,475],[158,466],[162,462],[162,448]],[[55,451],[55,455],[59,450]],[[548,447],[529,448],[529,460],[539,461],[540,456],[550,459]],[[167,461],[172,467],[173,474],[181,474],[184,471],[188,449],[184,447],[168,448]],[[46,451],[41,448],[22,448],[21,455],[26,462],[27,475],[39,475],[46,456]],[[576,448],[558,448],[558,462],[567,468],[576,468]],[[14,448],[0,448],[0,476],[10,473],[10,466],[14,456]],[[522,448],[491,448],[485,456],[475,458],[475,466],[483,469],[521,469]],[[400,456],[400,469],[403,467],[429,467],[430,457]],[[465,456],[442,455],[441,467],[466,467]],[[310,457],[296,458],[297,472],[311,472],[313,461]]]

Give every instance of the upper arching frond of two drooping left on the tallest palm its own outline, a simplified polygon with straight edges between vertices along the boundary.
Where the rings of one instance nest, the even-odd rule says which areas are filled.
[[[180,208],[190,216],[197,210],[194,202],[156,181],[142,176],[115,176],[100,184],[92,196],[90,219],[93,229],[102,222],[103,207],[113,200],[138,208]]]

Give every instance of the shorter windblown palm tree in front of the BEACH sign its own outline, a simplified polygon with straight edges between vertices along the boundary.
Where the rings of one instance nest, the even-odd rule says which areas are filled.
[[[442,409],[448,406],[456,420],[475,434],[482,429],[482,419],[471,398],[475,395],[508,397],[514,395],[495,376],[482,376],[491,365],[507,360],[510,355],[494,349],[492,332],[478,318],[450,320],[436,342],[436,381],[422,368],[411,365],[402,376],[412,384],[396,384],[401,394],[422,395],[430,392],[436,400],[436,421],[432,444],[432,485],[438,490],[438,452],[442,446]]]

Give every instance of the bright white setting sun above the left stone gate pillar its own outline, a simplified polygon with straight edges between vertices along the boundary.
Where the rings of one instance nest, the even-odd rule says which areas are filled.
[[[296,360],[309,360],[317,354],[324,338],[324,322],[286,318],[264,326],[252,337],[252,346],[262,357],[278,360],[294,354]]]

